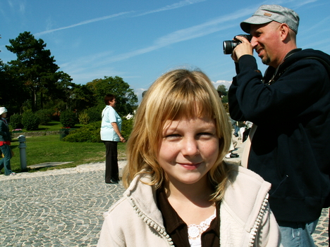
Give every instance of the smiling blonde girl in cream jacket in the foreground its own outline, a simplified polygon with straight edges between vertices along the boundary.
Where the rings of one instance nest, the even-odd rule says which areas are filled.
[[[149,88],[127,145],[123,198],[98,246],[279,246],[270,184],[223,162],[231,125],[207,75],[173,70]]]

